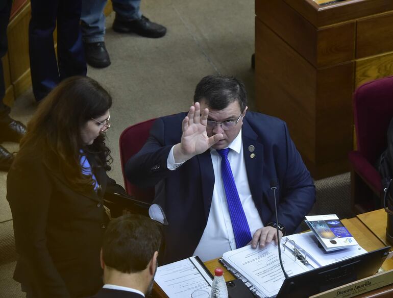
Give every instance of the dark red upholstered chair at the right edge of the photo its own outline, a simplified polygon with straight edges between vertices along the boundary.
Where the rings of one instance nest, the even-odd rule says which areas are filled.
[[[356,213],[383,206],[381,177],[375,168],[386,149],[386,132],[393,117],[393,77],[358,87],[353,96],[357,151],[349,153],[351,202]]]

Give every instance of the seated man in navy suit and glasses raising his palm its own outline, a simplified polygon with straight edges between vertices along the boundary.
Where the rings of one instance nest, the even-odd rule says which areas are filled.
[[[314,204],[313,181],[285,122],[246,111],[240,81],[205,77],[188,114],[159,118],[128,161],[127,178],[155,186],[167,216],[165,263],[263,247],[277,240],[276,226],[293,233]]]

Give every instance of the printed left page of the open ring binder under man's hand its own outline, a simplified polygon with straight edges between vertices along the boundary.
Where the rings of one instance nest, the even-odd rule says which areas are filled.
[[[288,250],[281,250],[281,258],[288,276],[311,269],[299,260],[295,261]],[[263,249],[252,249],[251,245],[247,245],[225,253],[223,259],[267,297],[277,295],[284,282],[278,247],[274,243],[266,245]]]

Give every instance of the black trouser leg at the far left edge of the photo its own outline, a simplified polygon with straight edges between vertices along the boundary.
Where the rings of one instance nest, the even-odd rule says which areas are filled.
[[[0,0],[0,60],[7,53],[7,27],[10,19],[11,6],[12,0]],[[0,122],[8,123],[11,121],[9,116],[10,108],[3,103],[5,94],[3,62],[0,61]]]

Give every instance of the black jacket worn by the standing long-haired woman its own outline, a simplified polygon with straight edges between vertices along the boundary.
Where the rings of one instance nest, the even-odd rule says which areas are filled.
[[[40,297],[81,297],[102,287],[101,240],[109,221],[103,193],[116,188],[103,168],[95,172],[102,191],[77,192],[42,159],[39,146],[16,157],[7,177],[17,262],[14,279]],[[88,156],[91,165],[94,160]]]

